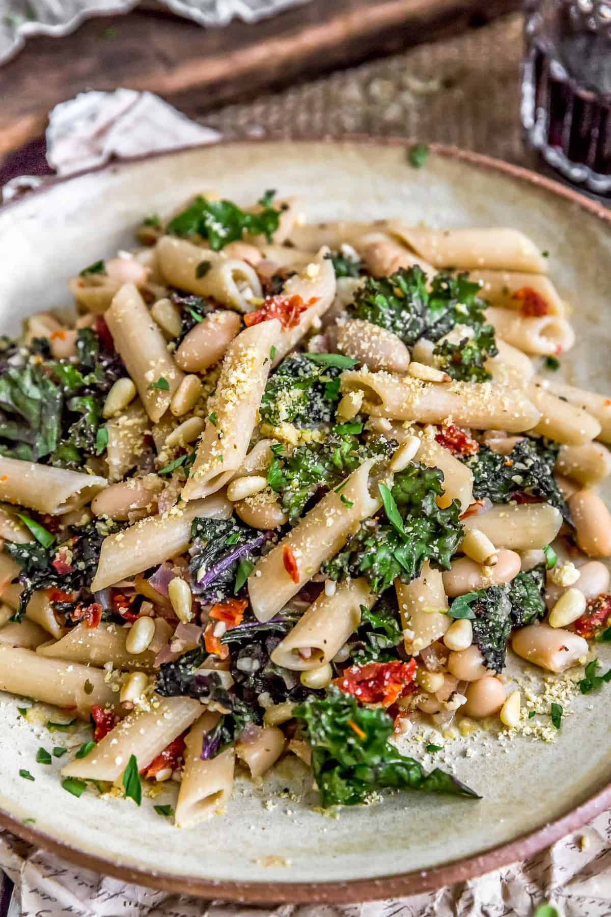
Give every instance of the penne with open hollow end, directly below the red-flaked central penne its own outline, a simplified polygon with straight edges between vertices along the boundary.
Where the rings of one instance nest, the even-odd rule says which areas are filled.
[[[307,671],[331,662],[361,623],[361,605],[371,608],[376,598],[363,578],[338,583],[333,595],[322,591],[278,643],[271,661],[294,671]]]

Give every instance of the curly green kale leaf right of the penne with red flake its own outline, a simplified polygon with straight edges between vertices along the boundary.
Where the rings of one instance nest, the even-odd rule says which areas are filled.
[[[414,463],[399,471],[391,491],[380,485],[384,512],[366,519],[346,541],[344,550],[322,565],[332,580],[365,576],[380,594],[399,578],[420,576],[425,560],[437,569],[450,569],[463,526],[460,504],[454,500],[440,509],[435,497],[442,491],[442,471]]]

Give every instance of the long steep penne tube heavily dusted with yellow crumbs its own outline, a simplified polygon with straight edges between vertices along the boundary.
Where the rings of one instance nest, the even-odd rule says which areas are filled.
[[[227,348],[197,455],[180,496],[205,497],[231,481],[245,459],[278,341],[277,318],[245,328]]]

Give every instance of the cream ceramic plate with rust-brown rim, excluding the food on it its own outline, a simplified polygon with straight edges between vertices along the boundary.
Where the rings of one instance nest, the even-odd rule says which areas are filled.
[[[609,214],[529,172],[458,150],[433,148],[415,170],[406,149],[405,141],[236,143],[136,160],[31,193],[0,210],[0,331],[68,304],[66,279],[133,244],[143,215],[168,212],[202,189],[247,203],[276,188],[300,194],[309,220],[399,215],[431,226],[522,229],[550,251],[551,276],[573,304],[578,343],[562,372],[611,391]],[[518,673],[525,690],[541,690],[533,668]],[[563,699],[562,731],[551,744],[506,744],[494,732],[440,743],[437,735],[444,750],[435,763],[453,768],[481,801],[403,793],[322,817],[304,790],[305,768],[283,761],[263,788],[239,779],[224,817],[182,832],[150,800],[138,810],[62,790],[60,761],[49,767],[35,757],[65,735],[26,724],[17,703],[0,694],[0,823],[101,872],[210,898],[345,901],[435,888],[529,856],[611,807],[602,692]],[[435,735],[418,735],[405,750],[431,767],[423,748]],[[19,768],[35,781],[21,779]],[[173,793],[155,801],[173,802]]]

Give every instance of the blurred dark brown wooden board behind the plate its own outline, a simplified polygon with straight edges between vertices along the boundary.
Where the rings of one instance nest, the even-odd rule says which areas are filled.
[[[486,23],[519,0],[311,0],[255,26],[204,29],[161,7],[29,39],[0,69],[0,154],[45,128],[86,89],[148,89],[194,116],[265,89]]]

